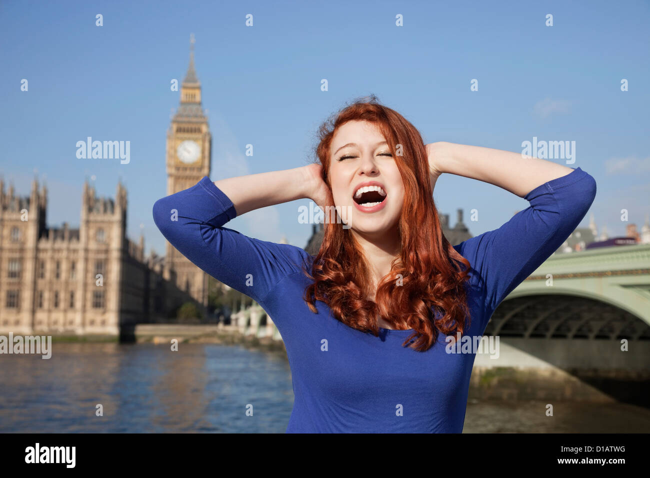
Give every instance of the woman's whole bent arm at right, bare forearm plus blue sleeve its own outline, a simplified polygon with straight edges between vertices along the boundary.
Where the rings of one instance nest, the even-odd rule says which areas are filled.
[[[530,204],[500,226],[467,239],[454,249],[471,265],[476,296],[489,317],[510,292],[555,252],[577,228],[596,194],[595,180],[581,168],[543,159],[452,143],[426,145],[431,181],[443,172],[486,181]]]

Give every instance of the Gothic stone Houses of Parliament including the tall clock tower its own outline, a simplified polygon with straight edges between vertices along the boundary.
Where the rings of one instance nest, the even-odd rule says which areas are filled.
[[[193,45],[166,142],[168,195],[210,175]],[[205,313],[207,274],[169,243],[164,258],[145,257],[144,237],[126,236],[126,215],[121,183],[114,199],[100,198],[86,179],[79,228],[48,228],[45,185],[34,178],[31,194],[18,196],[0,180],[0,334],[118,336],[136,323],[168,321],[185,302]]]

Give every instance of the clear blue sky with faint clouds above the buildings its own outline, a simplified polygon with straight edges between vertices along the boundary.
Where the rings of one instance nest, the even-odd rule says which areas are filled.
[[[570,166],[597,181],[590,213],[599,232],[606,225],[610,237],[625,235],[621,209],[638,228],[650,213],[649,24],[647,1],[3,0],[0,173],[7,188],[12,181],[26,195],[36,168],[55,227],[79,225],[86,176],[110,197],[122,178],[127,235],[137,240],[142,230],[147,249],[164,254],[151,207],[166,194],[165,138],[179,103],[170,81],[185,76],[194,33],[213,180],[307,164],[318,125],[373,93],[426,142],[521,152],[533,137],[575,140]],[[77,159],[75,144],[88,136],[129,140],[130,163]],[[249,143],[253,157],[244,155]],[[463,208],[473,235],[528,206],[499,187],[450,175],[434,198],[452,224]],[[267,241],[285,235],[303,247],[311,225],[298,223],[301,204],[309,200],[252,211],[227,227]],[[480,220],[471,222],[474,208]]]

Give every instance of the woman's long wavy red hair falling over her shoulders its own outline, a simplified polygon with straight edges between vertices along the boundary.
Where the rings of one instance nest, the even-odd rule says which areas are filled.
[[[341,220],[326,221],[311,274],[304,271],[314,280],[306,287],[304,300],[314,313],[318,313],[315,300],[325,302],[336,319],[374,336],[379,334],[378,317],[395,328],[406,325],[414,332],[403,345],[417,337],[411,347],[426,351],[439,333],[462,334],[469,328],[465,281],[470,264],[442,233],[422,136],[404,116],[380,105],[374,95],[344,107],[318,129],[316,155],[328,187],[331,140],[339,127],[353,120],[378,127],[402,176],[404,206],[398,226],[402,250],[391,272],[379,282],[372,302],[366,299],[372,294],[363,250],[354,235],[343,229]],[[396,154],[398,144],[402,155]]]

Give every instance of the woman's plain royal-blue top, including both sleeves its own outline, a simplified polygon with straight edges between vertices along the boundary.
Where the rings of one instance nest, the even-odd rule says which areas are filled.
[[[454,246],[472,267],[469,336],[482,336],[499,303],[569,237],[595,191],[595,180],[575,168],[526,194],[530,207],[500,228]],[[294,391],[287,432],[463,430],[474,353],[447,353],[442,334],[428,351],[414,351],[402,346],[412,330],[380,328],[376,337],[344,325],[320,301],[312,313],[301,268],[311,271],[314,256],[225,228],[236,215],[207,176],[153,206],[156,225],[179,252],[256,300],[278,327]]]

